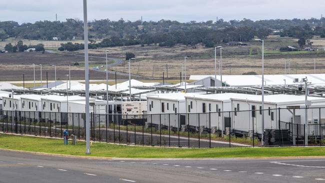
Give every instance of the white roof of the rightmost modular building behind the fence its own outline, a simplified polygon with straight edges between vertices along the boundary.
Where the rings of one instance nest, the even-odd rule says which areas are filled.
[[[249,101],[262,101],[261,95],[249,95],[243,98],[231,98],[233,100],[249,100]],[[291,94],[272,94],[272,95],[264,95],[264,102],[268,103],[276,103],[276,104],[289,104],[289,103],[304,103],[305,96],[304,95],[291,95]],[[308,96],[307,100],[311,102],[325,102],[325,98],[323,97],[314,97]]]

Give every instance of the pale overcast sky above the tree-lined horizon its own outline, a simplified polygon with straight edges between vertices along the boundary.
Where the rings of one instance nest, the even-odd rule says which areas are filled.
[[[88,20],[170,19],[215,21],[230,19],[320,18],[324,0],[87,0]],[[19,23],[37,20],[82,19],[82,0],[3,0],[0,21]]]

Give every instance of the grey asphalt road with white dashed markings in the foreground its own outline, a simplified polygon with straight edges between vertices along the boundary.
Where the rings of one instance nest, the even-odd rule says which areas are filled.
[[[0,182],[325,182],[325,159],[104,160],[0,150]]]

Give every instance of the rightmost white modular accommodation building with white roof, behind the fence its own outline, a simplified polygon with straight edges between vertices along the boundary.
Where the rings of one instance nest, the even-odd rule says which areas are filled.
[[[292,122],[291,108],[305,103],[304,95],[274,94],[264,96],[264,112],[262,112],[261,96],[252,95],[246,98],[231,98],[231,128],[237,131],[249,131],[254,127],[254,131],[262,133],[261,119],[264,113],[264,129],[278,128],[278,120],[281,122]],[[325,98],[307,97],[308,103],[324,103]],[[239,107],[239,110],[238,110]],[[278,108],[281,108],[278,110]],[[280,111],[280,112],[279,112]],[[302,120],[302,119],[301,119]],[[295,121],[301,124],[301,121]],[[281,124],[280,124],[281,125]]]

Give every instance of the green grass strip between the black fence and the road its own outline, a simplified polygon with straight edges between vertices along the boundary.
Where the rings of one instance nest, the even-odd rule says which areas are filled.
[[[85,155],[85,143],[63,145],[61,139],[0,134],[0,148],[56,154]],[[92,143],[90,156],[105,157],[271,157],[325,155],[325,147],[219,147],[219,148],[158,148]]]

